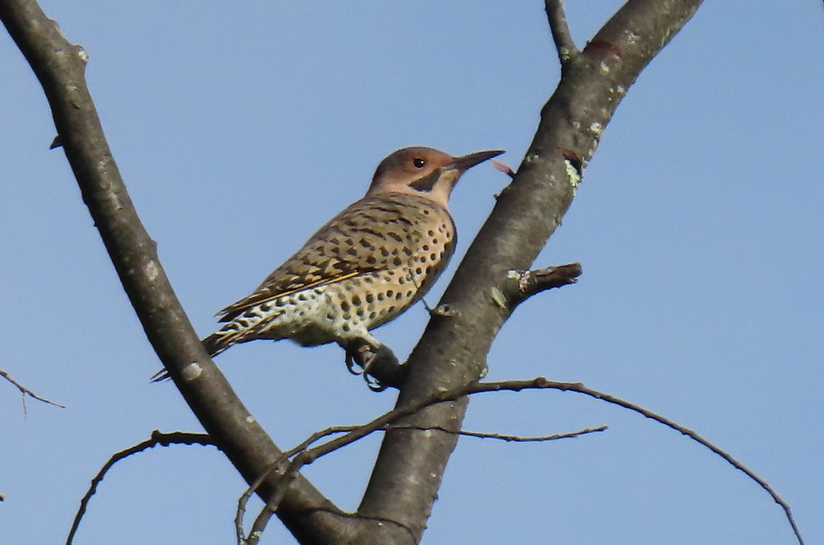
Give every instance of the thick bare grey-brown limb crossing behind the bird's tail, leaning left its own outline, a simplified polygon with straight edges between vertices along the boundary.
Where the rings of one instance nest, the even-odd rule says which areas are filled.
[[[281,456],[214,366],[166,278],[154,241],[132,205],[84,76],[87,54],[70,44],[34,0],[0,1],[0,20],[43,86],[83,201],[157,356],[215,443],[253,482]],[[266,500],[272,482],[259,494]],[[331,543],[352,519],[298,476],[279,516],[307,543]]]

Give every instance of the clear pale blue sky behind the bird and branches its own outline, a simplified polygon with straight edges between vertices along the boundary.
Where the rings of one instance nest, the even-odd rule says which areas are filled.
[[[583,45],[620,2],[568,2]],[[327,218],[384,156],[506,149],[517,168],[559,69],[541,2],[41,2],[87,78],[129,192],[199,333]],[[537,265],[576,286],[522,305],[489,379],[583,381],[698,431],[765,478],[824,542],[824,33],[820,2],[706,2],[630,88]],[[199,430],[152,352],[62,151],[40,86],[0,33],[0,543],[60,543],[91,477],[154,429]],[[448,277],[508,179],[458,185]],[[399,355],[417,306],[377,331]],[[366,422],[338,347],[255,342],[218,357],[283,447]],[[674,431],[589,398],[485,394],[424,543],[794,543],[742,473]],[[378,437],[307,476],[354,509]],[[213,449],[156,449],[106,477],[76,543],[232,543],[244,489]],[[256,510],[259,505],[251,508]],[[273,521],[263,543],[293,543]]]

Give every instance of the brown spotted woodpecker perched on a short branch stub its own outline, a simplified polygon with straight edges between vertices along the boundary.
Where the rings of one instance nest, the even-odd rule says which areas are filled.
[[[450,156],[405,147],[377,165],[363,198],[344,208],[249,296],[218,312],[209,356],[235,344],[288,338],[337,342],[368,370],[382,349],[370,331],[423,298],[455,249],[448,200],[461,175],[503,150]],[[349,367],[352,370],[352,367]],[[168,378],[165,371],[154,380]]]

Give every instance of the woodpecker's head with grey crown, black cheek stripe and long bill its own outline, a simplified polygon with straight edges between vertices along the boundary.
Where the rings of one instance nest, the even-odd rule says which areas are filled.
[[[393,151],[377,165],[366,196],[407,193],[428,198],[446,209],[452,188],[461,175],[502,153],[502,150],[475,151],[453,157],[431,147],[405,147]]]

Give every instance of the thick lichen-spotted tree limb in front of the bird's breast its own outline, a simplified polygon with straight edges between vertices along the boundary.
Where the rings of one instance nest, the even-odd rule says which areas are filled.
[[[430,320],[410,355],[398,407],[485,374],[486,353],[512,311],[495,302],[494,289],[509,270],[530,268],[572,202],[627,89],[699,5],[700,0],[630,0],[566,63],[517,175],[440,301],[455,314]],[[458,430],[466,404],[466,397],[440,403],[400,423]],[[420,540],[455,445],[450,434],[387,431],[358,515],[394,520]],[[408,537],[399,533],[397,541],[382,543],[408,543]]]

